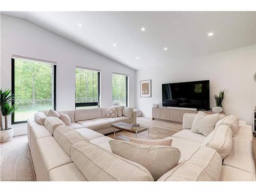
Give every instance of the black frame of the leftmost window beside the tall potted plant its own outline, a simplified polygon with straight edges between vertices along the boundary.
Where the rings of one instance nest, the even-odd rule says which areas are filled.
[[[19,58],[17,58],[19,59]],[[20,58],[22,59],[22,58]],[[33,60],[32,58],[28,58],[27,60],[31,60],[31,61],[36,61],[36,62],[39,62],[38,60]],[[46,62],[47,63],[47,62]],[[50,62],[49,62],[50,63]],[[54,92],[54,97],[53,97],[53,108],[54,110],[56,111],[56,106],[57,106],[57,65],[56,64],[53,64],[53,63],[50,63],[51,65],[54,66],[53,68],[53,92]],[[12,94],[14,95],[15,94],[15,58],[11,58],[11,79],[12,79]],[[15,104],[15,100],[13,100],[11,102],[12,105]],[[15,115],[15,112],[11,115],[11,124],[21,124],[21,123],[27,123],[28,121],[14,121],[14,115]]]

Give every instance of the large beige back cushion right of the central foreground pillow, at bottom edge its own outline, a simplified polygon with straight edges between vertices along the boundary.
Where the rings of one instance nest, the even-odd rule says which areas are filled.
[[[219,181],[220,155],[209,147],[200,147],[190,159],[179,163],[158,181]]]

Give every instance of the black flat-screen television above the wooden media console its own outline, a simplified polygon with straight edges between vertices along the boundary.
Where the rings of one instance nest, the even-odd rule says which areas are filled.
[[[162,84],[163,106],[209,110],[209,84],[209,80]]]

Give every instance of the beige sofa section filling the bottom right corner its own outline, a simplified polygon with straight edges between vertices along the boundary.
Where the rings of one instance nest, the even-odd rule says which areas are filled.
[[[244,170],[223,165],[221,169],[220,181],[255,181],[253,174]]]

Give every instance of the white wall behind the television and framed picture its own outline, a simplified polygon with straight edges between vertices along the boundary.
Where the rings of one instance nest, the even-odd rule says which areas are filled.
[[[152,116],[152,104],[162,102],[162,83],[210,80],[210,107],[214,94],[225,88],[223,108],[227,115],[237,115],[253,123],[255,105],[255,45],[159,66],[136,72],[136,108]],[[152,79],[152,97],[139,97],[139,81]]]

